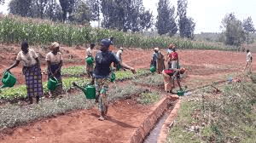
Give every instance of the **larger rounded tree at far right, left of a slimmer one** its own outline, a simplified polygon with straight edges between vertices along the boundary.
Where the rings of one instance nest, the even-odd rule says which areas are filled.
[[[244,43],[245,31],[243,30],[241,20],[237,20],[235,14],[226,14],[222,20],[222,28],[224,33],[224,43],[229,45],[240,46]]]

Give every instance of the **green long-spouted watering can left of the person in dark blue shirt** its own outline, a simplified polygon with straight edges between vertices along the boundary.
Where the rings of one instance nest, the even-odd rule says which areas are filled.
[[[79,87],[78,84],[73,82],[73,86],[81,89],[84,92],[87,99],[95,99],[96,98],[96,89],[95,89],[94,84],[89,83],[89,84],[86,84],[84,88],[82,88],[82,87]]]

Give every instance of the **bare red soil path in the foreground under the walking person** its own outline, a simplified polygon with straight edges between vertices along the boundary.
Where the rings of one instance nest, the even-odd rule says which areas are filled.
[[[107,120],[99,121],[96,110],[84,110],[45,119],[5,134],[2,143],[120,143],[130,139],[134,130],[150,112],[150,106],[136,100],[119,100],[108,111]]]

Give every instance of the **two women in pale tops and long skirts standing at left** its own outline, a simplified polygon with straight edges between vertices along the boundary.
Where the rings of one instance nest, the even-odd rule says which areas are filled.
[[[46,54],[45,60],[48,66],[49,77],[56,77],[61,83],[61,66],[62,66],[62,54],[60,51],[59,43],[51,43],[50,52]],[[23,68],[22,73],[26,79],[26,92],[30,104],[33,103],[33,98],[36,98],[38,103],[39,99],[43,95],[43,85],[42,85],[42,71],[40,61],[38,59],[38,54],[33,49],[29,49],[28,43],[23,41],[21,43],[21,51],[17,54],[15,63],[9,66],[5,71],[10,71],[15,66],[18,66],[22,62]],[[61,92],[61,84],[57,87],[55,92],[49,93],[54,96]]]

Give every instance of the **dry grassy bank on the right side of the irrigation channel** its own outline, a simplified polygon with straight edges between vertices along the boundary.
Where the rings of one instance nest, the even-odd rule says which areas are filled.
[[[253,142],[255,103],[254,83],[226,84],[215,95],[197,89],[183,98],[167,142]]]

